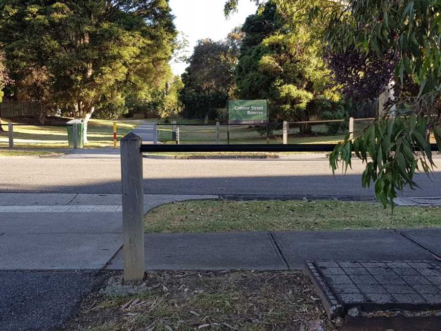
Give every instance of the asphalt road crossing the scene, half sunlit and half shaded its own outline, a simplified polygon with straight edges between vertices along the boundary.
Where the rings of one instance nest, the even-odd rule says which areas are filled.
[[[441,157],[435,160],[441,169]],[[120,193],[119,159],[0,159],[0,192]],[[290,160],[144,159],[145,194],[215,194],[372,198],[361,187],[363,164],[335,177],[325,158]],[[441,196],[441,172],[417,175],[421,189],[404,196]]]

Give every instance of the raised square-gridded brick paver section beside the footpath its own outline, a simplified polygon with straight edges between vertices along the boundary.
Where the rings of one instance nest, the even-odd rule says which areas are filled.
[[[340,311],[441,309],[441,267],[432,262],[308,261],[306,269],[322,299]]]

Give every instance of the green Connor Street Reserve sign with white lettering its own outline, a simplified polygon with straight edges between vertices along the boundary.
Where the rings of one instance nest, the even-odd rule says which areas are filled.
[[[230,100],[228,102],[229,124],[268,123],[267,100]]]

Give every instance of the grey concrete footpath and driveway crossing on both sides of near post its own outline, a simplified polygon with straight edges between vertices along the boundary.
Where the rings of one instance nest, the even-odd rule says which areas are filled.
[[[144,210],[216,195],[145,195]],[[0,194],[0,270],[122,269],[118,194]],[[305,259],[432,260],[441,229],[145,234],[148,269],[301,269]]]

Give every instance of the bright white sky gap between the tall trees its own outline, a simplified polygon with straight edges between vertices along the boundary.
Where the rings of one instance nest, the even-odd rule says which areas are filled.
[[[193,53],[198,40],[225,39],[229,32],[242,25],[245,19],[257,10],[254,2],[241,0],[238,13],[231,15],[227,20],[224,16],[225,0],[169,0],[169,5],[176,16],[177,30],[182,31],[189,42],[187,56]],[[175,75],[181,75],[187,66],[187,63],[171,64]]]

